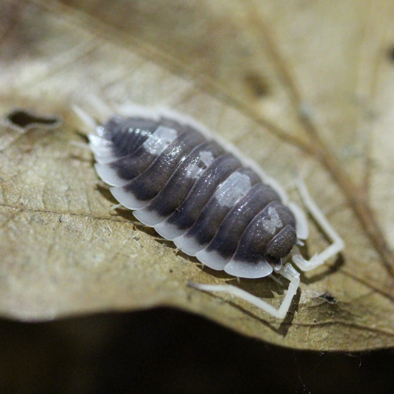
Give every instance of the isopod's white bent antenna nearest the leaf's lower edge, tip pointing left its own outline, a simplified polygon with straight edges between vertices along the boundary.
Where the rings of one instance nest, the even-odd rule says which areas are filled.
[[[294,269],[292,264],[287,263],[285,267],[282,267],[277,273],[280,273],[285,278],[290,280],[289,289],[285,298],[282,301],[279,309],[274,308],[272,305],[263,301],[261,298],[253,296],[252,294],[245,292],[245,290],[239,289],[238,287],[231,285],[202,285],[200,283],[189,282],[188,285],[194,287],[195,289],[202,290],[204,292],[226,292],[233,296],[244,299],[247,302],[257,306],[263,312],[267,312],[270,315],[277,317],[279,319],[284,319],[290,308],[293,297],[297,293],[299,285],[299,273]]]

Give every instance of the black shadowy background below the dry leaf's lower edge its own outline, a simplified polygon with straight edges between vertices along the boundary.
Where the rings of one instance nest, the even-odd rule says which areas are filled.
[[[289,350],[169,308],[0,320],[0,393],[394,393],[394,350]]]

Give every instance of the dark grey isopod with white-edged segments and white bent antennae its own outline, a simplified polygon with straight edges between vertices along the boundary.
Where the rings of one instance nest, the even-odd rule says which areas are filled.
[[[283,319],[299,285],[298,271],[284,261],[308,237],[303,211],[256,163],[196,120],[159,107],[124,104],[112,110],[97,99],[91,102],[94,117],[79,107],[74,111],[90,130],[96,171],[119,205],[203,266],[237,278],[279,274],[290,280],[278,309],[228,284],[188,284],[227,292]],[[297,185],[306,209],[331,241],[310,260],[293,252],[293,263],[309,271],[338,254],[344,242],[303,182]]]

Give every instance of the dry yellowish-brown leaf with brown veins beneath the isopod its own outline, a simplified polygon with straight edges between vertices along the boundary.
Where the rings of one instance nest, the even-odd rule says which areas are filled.
[[[392,14],[366,0],[3,0],[0,313],[172,305],[293,348],[393,346]],[[89,94],[194,116],[295,200],[299,172],[345,252],[302,276],[282,323],[188,288],[230,277],[201,270],[130,212],[110,213],[70,112],[89,110]],[[310,255],[327,245],[311,230]],[[269,278],[240,286],[276,305],[283,297]]]

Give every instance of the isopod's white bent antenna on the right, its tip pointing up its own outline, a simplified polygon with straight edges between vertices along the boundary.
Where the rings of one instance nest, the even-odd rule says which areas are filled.
[[[332,242],[331,245],[328,246],[328,248],[326,248],[321,253],[316,253],[309,261],[305,260],[299,254],[293,256],[293,262],[297,265],[297,267],[299,267],[302,271],[310,271],[318,267],[319,265],[322,265],[329,258],[338,254],[345,247],[345,243],[338,235],[338,233],[329,224],[323,212],[316,205],[315,201],[313,201],[312,197],[310,197],[308,190],[306,189],[305,183],[300,178],[297,178],[296,182],[298,192],[302,198],[302,202],[304,203],[306,209],[314,217],[316,222],[320,225],[322,230],[326,233],[326,235]]]

